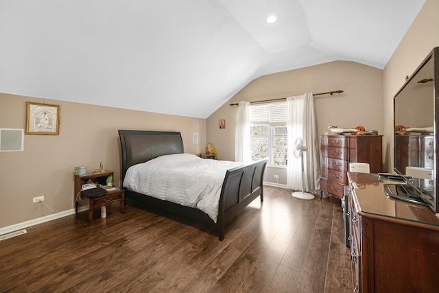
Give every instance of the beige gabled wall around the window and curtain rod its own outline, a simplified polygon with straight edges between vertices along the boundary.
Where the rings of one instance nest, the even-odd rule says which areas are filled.
[[[341,89],[344,93],[316,96],[318,133],[328,126],[378,130],[383,134],[383,71],[355,62],[329,62],[322,65],[265,75],[254,80],[207,119],[207,140],[219,157],[235,159],[237,106],[230,103],[322,93]],[[226,119],[226,129],[218,120]],[[272,176],[268,176],[272,181]]]

